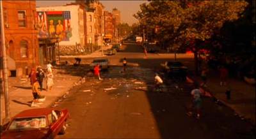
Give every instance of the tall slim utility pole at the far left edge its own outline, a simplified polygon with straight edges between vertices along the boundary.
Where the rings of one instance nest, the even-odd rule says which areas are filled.
[[[9,91],[8,91],[8,77],[7,77],[7,62],[6,62],[6,47],[5,47],[5,37],[4,37],[4,18],[3,18],[3,1],[0,1],[1,9],[1,51],[3,56],[3,79],[4,79],[4,106],[5,106],[5,118],[3,123],[10,121],[10,103],[9,103]]]

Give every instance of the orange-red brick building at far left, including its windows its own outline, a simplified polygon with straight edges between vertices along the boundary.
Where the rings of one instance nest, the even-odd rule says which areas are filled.
[[[8,70],[26,75],[38,65],[36,1],[3,1],[3,17]]]

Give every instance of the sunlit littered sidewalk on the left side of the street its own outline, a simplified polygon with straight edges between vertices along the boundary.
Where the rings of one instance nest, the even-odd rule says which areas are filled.
[[[61,73],[62,69],[53,69],[54,71],[54,86],[51,91],[42,91],[42,95],[46,96],[45,102],[40,105],[40,108],[51,106],[57,98],[63,96],[81,77],[67,75]],[[63,71],[62,71],[63,72]],[[10,115],[13,117],[22,110],[27,110],[31,107],[33,99],[31,85],[28,78],[9,78],[9,96],[10,96]],[[46,82],[44,82],[45,88]],[[1,125],[5,117],[4,111],[4,95],[1,94]]]

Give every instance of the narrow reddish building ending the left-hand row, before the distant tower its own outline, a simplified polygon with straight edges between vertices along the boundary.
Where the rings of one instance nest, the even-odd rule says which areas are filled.
[[[105,36],[104,40],[105,41],[112,41],[113,36],[114,36],[114,19],[113,19],[113,14],[110,13],[109,11],[104,11],[104,24],[105,24]]]

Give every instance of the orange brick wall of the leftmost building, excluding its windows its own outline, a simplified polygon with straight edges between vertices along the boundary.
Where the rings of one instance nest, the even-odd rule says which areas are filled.
[[[36,24],[36,2],[35,1],[3,1],[3,12],[7,18],[4,19],[4,33],[6,39],[6,53],[16,62],[16,69],[25,74],[26,67],[29,69],[38,66],[38,31]],[[18,10],[26,11],[26,27],[18,26]],[[28,42],[27,57],[20,56],[20,41]],[[12,43],[10,43],[12,42]]]

